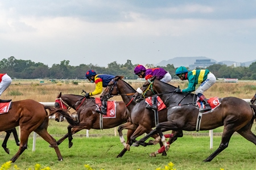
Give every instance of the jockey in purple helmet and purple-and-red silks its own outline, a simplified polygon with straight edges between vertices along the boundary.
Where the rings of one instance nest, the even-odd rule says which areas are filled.
[[[134,74],[138,75],[139,78],[150,79],[152,76],[156,76],[156,79],[164,82],[169,83],[172,79],[172,76],[168,71],[164,70],[163,68],[152,68],[146,69],[143,65],[138,65],[134,68]],[[152,106],[147,105],[147,109],[157,109],[156,107],[157,99],[156,96],[152,96]]]

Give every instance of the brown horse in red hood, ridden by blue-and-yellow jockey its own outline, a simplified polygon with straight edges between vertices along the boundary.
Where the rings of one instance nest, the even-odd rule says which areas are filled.
[[[71,107],[75,109],[78,114],[78,122],[73,122],[72,120],[67,120],[70,125],[68,125],[68,133],[64,135],[57,144],[60,145],[66,138],[69,140],[69,148],[72,147],[72,134],[77,133],[82,129],[109,129],[124,124],[129,121],[129,112],[125,107],[123,101],[116,101],[115,105],[115,118],[103,118],[102,125],[100,127],[100,114],[95,112],[96,102],[94,98],[86,99],[82,95],[61,95],[56,97],[55,107],[59,108]],[[67,118],[67,117],[66,117]]]

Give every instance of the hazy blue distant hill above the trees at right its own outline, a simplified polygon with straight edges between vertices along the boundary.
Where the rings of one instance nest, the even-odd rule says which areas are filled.
[[[195,63],[196,59],[210,59],[211,62],[216,62],[216,63],[222,62],[227,66],[232,66],[234,63],[236,63],[236,61],[216,61],[208,57],[175,57],[175,58],[168,59],[167,61],[163,60],[157,63],[155,66],[166,66],[168,64],[173,64],[174,67],[179,67],[179,66],[188,67],[189,65],[192,65],[193,63]],[[256,62],[256,59],[253,61],[248,61],[244,63],[245,63],[245,66],[248,67],[253,62]]]

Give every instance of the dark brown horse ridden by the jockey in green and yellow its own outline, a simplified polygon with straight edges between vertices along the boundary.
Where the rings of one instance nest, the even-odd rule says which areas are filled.
[[[170,146],[166,144],[166,139],[162,131],[175,130],[181,136],[183,130],[195,131],[197,124],[197,116],[199,115],[199,107],[195,105],[194,94],[176,94],[174,92],[176,87],[170,84],[160,82],[152,77],[146,81],[141,90],[142,94],[138,92],[134,95],[134,99],[141,101],[144,95],[158,94],[164,101],[168,109],[168,121],[160,123],[156,129],[151,131],[148,135],[143,137],[133,146],[143,145],[144,141],[151,135],[159,134],[166,150]],[[210,162],[215,156],[220,154],[226,147],[228,147],[230,138],[237,131],[242,137],[256,145],[256,135],[251,132],[251,126],[254,121],[254,112],[256,107],[246,103],[237,97],[224,97],[220,99],[220,105],[208,113],[201,116],[200,130],[215,129],[224,126],[220,146],[213,152],[204,162]],[[254,111],[252,111],[252,108]]]

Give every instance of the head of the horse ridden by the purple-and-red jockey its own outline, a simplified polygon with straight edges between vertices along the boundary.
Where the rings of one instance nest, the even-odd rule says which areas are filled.
[[[115,76],[115,78],[113,78],[109,82],[108,87],[106,87],[105,90],[101,94],[102,100],[108,100],[115,95],[119,95],[117,81],[122,78],[123,78],[123,76]]]

